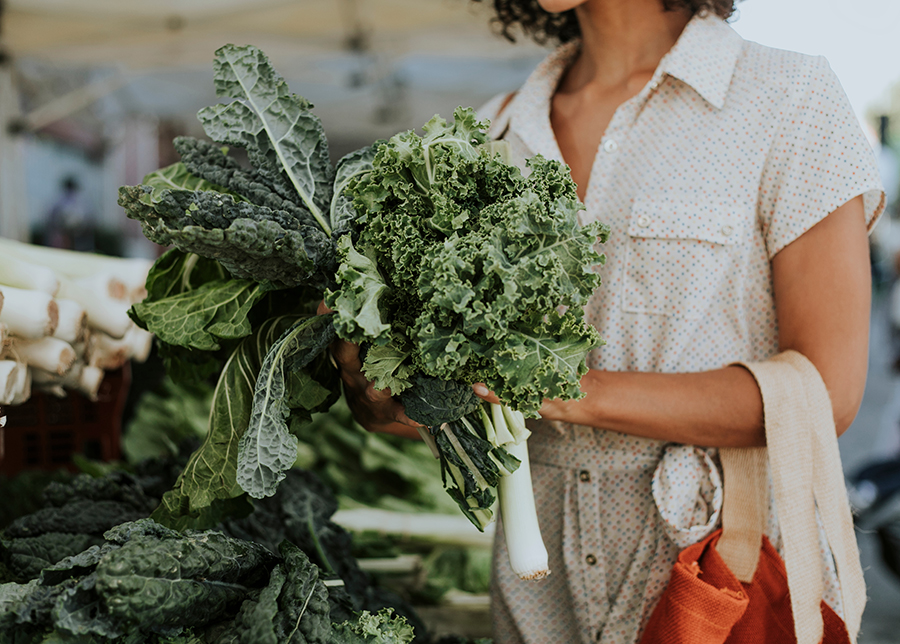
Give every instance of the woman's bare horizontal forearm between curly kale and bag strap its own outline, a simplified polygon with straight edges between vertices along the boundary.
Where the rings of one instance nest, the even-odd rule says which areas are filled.
[[[546,401],[542,416],[689,445],[765,445],[759,387],[742,367],[687,374],[592,370],[581,387],[584,398]]]

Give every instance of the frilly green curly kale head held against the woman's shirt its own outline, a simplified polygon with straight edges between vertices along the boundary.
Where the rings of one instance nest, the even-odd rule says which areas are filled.
[[[356,237],[341,240],[339,257],[353,270],[338,274],[327,302],[339,336],[394,347],[363,365],[392,391],[413,373],[481,381],[534,415],[545,397],[578,395],[584,367],[572,360],[600,344],[580,309],[599,284],[595,245],[609,230],[580,225],[562,164],[535,157],[524,177],[482,128],[458,109],[452,124],[433,119],[421,137],[379,146],[351,184]],[[560,309],[565,323],[554,321]]]

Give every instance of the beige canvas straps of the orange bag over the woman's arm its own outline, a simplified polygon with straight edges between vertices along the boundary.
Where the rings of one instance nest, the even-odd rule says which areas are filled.
[[[725,489],[717,550],[741,581],[753,578],[768,507],[768,460],[797,643],[822,639],[824,581],[816,508],[837,567],[844,621],[855,642],[866,588],[828,390],[815,366],[796,351],[740,364],[762,393],[767,447],[720,450]]]

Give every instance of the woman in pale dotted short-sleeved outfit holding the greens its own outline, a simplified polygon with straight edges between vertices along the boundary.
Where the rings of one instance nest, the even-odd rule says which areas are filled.
[[[856,415],[883,195],[827,63],[745,42],[724,21],[731,0],[495,6],[507,33],[563,44],[483,115],[518,158],[568,163],[584,221],[612,228],[587,307],[607,345],[586,396],[546,401],[529,441],[554,573],[519,581],[497,540],[496,641],[636,642],[679,549],[719,520],[707,448],[765,443],[759,389],[729,365],[794,349],[822,375],[838,432]],[[335,352],[360,422],[415,436],[356,347]]]

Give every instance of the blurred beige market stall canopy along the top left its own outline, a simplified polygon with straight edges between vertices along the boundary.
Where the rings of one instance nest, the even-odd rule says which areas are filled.
[[[225,42],[273,59],[341,51],[509,55],[468,0],[7,0],[19,56],[131,70],[208,63]]]

